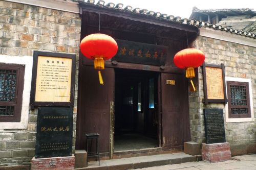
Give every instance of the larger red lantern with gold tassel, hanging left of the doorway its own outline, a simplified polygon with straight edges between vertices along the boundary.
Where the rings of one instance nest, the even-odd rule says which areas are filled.
[[[81,53],[94,60],[94,68],[98,69],[100,84],[103,84],[103,79],[100,73],[104,69],[104,60],[114,57],[117,53],[117,43],[109,35],[91,34],[84,37],[80,43]]]

